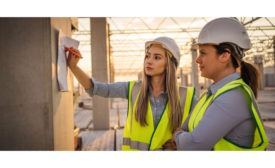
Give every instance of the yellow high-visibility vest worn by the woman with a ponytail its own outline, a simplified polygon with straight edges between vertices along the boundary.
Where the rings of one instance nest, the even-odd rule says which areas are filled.
[[[258,106],[255,102],[255,97],[250,87],[241,78],[227,83],[225,86],[217,90],[214,95],[207,97],[206,92],[202,94],[190,116],[188,122],[189,131],[192,132],[197,127],[200,120],[203,118],[205,111],[217,97],[236,88],[240,88],[245,95],[249,105],[249,111],[256,125],[253,144],[251,147],[244,147],[231,142],[226,137],[223,137],[214,145],[213,150],[265,150],[268,145],[268,140],[263,123],[258,115]]]

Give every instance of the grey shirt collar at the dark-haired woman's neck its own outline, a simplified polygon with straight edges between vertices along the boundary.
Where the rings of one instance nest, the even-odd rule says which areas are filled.
[[[237,72],[230,74],[230,75],[226,76],[225,78],[223,78],[222,80],[220,80],[219,82],[212,84],[208,88],[208,92],[211,91],[211,94],[215,94],[217,92],[217,90],[222,88],[224,85],[226,85],[227,83],[229,83],[233,80],[239,79],[239,78],[240,78],[240,74]]]

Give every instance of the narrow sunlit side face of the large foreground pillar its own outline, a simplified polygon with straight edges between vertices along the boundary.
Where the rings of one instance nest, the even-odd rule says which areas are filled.
[[[73,74],[68,69],[69,92],[59,92],[56,62],[57,62],[57,36],[56,31],[62,30],[66,36],[72,36],[70,18],[51,18],[51,82],[52,82],[52,108],[53,108],[53,137],[55,150],[73,150],[74,118],[73,118]]]

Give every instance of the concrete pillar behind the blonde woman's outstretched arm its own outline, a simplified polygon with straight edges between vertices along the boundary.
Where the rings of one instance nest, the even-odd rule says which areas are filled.
[[[91,18],[92,76],[100,82],[109,82],[109,39],[106,18]],[[94,129],[109,129],[108,98],[94,96]]]

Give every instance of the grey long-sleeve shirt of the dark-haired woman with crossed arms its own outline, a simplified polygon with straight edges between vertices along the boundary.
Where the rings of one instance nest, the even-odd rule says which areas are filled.
[[[215,94],[238,78],[238,73],[231,74],[211,85],[208,91]],[[193,132],[188,132],[188,121],[189,118],[183,125],[184,131],[176,132],[178,150],[211,150],[223,137],[242,146],[250,147],[253,143],[255,123],[240,89],[228,91],[215,99]]]

